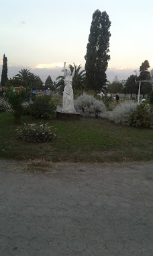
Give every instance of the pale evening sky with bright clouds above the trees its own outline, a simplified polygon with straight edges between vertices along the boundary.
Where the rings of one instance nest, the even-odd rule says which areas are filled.
[[[0,75],[3,54],[8,77],[23,68],[55,80],[66,65],[85,66],[95,10],[111,21],[107,79],[127,79],[146,59],[153,67],[153,1],[140,0],[0,0]]]

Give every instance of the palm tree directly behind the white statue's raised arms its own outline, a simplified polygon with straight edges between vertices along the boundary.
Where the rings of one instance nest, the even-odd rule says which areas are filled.
[[[74,67],[72,65],[68,65],[68,67],[72,73]],[[72,87],[76,90],[85,88],[85,69],[83,69],[82,71],[80,71],[80,69],[81,65],[79,65],[78,67],[77,65],[75,65],[75,73],[72,79]],[[62,94],[64,90],[64,75],[59,75],[56,78],[56,81],[56,90],[58,90],[59,94]]]

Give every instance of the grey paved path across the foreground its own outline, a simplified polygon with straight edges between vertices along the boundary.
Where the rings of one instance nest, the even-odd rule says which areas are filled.
[[[0,160],[0,255],[153,255],[152,162],[20,168]]]

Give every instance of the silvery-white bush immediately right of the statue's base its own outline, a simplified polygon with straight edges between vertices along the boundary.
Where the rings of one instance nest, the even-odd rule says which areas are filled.
[[[89,94],[83,94],[74,100],[74,107],[81,117],[107,117],[105,104]]]

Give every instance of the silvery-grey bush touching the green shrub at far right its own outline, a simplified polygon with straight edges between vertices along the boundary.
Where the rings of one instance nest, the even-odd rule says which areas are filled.
[[[109,113],[109,120],[115,124],[130,125],[130,116],[138,106],[137,103],[123,103]]]

